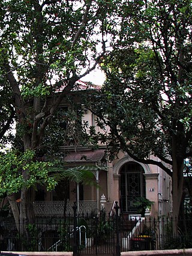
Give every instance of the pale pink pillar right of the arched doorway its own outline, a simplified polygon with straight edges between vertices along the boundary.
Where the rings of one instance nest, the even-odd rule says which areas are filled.
[[[153,201],[151,211],[154,215],[158,215],[158,175],[159,173],[145,173],[146,181],[146,198]]]

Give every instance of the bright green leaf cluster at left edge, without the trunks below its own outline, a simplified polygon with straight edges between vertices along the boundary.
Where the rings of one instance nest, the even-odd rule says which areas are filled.
[[[1,154],[1,195],[11,195],[19,192],[22,187],[29,188],[37,183],[46,185],[47,190],[55,187],[56,181],[49,177],[49,168],[53,163],[35,161],[34,156],[35,152],[31,150],[24,154],[14,150]],[[22,172],[25,171],[30,173],[28,180],[23,180]]]

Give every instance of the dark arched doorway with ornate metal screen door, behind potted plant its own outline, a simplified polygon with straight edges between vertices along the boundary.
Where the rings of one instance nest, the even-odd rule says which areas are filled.
[[[121,169],[120,178],[120,204],[122,212],[137,213],[134,201],[145,197],[145,173],[142,165],[137,162],[127,162]]]

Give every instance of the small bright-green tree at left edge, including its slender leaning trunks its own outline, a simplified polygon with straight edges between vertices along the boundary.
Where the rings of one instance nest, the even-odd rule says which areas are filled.
[[[20,224],[17,221],[19,217],[19,207],[14,195],[19,192],[20,189],[28,191],[28,205],[31,204],[30,188],[35,184],[44,184],[47,190],[51,190],[56,185],[56,180],[49,175],[49,168],[53,166],[50,162],[40,162],[34,160],[35,151],[26,150],[21,153],[17,150],[11,150],[7,153],[1,153],[1,186],[0,192],[2,195],[7,195],[8,201],[13,212],[14,219],[16,220],[16,227],[23,228],[24,222]],[[23,172],[28,172],[30,177],[28,180],[23,179]],[[26,207],[25,211],[30,215],[31,219],[34,218],[34,212],[28,209],[27,204],[22,207]],[[24,230],[23,230],[24,231]]]

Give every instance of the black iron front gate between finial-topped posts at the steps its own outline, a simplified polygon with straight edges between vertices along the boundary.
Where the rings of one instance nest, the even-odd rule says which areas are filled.
[[[119,206],[116,203],[115,210]],[[100,215],[77,216],[74,210],[74,244],[73,254],[76,255],[120,255],[119,216]],[[75,228],[76,227],[76,228]]]

